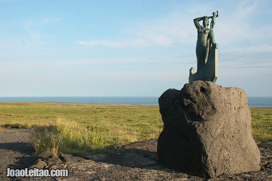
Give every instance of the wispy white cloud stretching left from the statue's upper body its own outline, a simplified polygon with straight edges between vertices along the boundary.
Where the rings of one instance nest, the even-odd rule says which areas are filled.
[[[153,22],[135,23],[129,29],[125,29],[122,37],[117,40],[78,40],[76,43],[94,46],[124,48],[124,47],[149,47],[149,46],[169,46],[173,43],[194,43],[191,30],[188,31],[188,20],[181,14],[171,13],[163,19]],[[190,22],[192,23],[192,22]],[[185,31],[185,29],[187,31]]]

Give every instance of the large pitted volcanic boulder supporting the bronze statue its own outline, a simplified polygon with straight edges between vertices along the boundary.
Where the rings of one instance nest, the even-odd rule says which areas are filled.
[[[193,81],[159,97],[159,161],[201,177],[260,170],[243,89]]]

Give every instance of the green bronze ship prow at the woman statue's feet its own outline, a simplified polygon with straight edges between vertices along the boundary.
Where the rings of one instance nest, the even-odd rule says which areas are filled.
[[[210,49],[209,58],[206,64],[200,68],[197,72],[194,72],[194,68],[190,69],[189,83],[195,80],[210,81],[215,83],[218,77],[218,59],[217,59],[218,45],[214,44]]]

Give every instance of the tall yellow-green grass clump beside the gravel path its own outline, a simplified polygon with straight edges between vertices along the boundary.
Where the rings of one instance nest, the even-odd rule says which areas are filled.
[[[118,143],[113,135],[90,128],[64,118],[58,118],[54,125],[38,126],[34,130],[34,155],[49,152],[57,156],[60,153],[84,153],[88,149],[101,151]]]

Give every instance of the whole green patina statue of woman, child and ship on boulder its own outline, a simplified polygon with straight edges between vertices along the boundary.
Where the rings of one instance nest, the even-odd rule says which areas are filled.
[[[218,17],[218,11],[213,12],[213,16],[203,16],[193,20],[198,30],[198,39],[196,45],[197,72],[194,68],[190,69],[189,82],[195,80],[207,80],[215,83],[217,79],[217,43],[214,37],[215,18]],[[209,19],[212,19],[211,28],[208,28]],[[202,21],[201,26],[199,21]]]

